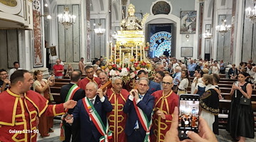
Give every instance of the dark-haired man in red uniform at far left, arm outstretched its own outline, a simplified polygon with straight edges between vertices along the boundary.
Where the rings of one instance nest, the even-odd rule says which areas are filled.
[[[70,100],[48,105],[48,100],[30,90],[33,76],[27,70],[11,75],[11,88],[0,94],[0,141],[36,141],[36,116],[64,114],[64,108],[75,107]]]

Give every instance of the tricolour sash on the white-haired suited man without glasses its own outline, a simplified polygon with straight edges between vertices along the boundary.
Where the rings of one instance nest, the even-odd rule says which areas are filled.
[[[102,119],[100,118],[100,115],[97,113],[92,102],[90,102],[90,100],[87,97],[85,97],[85,99],[82,99],[82,103],[84,104],[85,110],[89,114],[93,124],[95,124],[97,130],[102,135],[102,137],[100,137],[100,142],[108,142],[112,138],[112,132],[108,131],[109,130],[108,122],[107,122],[107,126],[103,124]]]

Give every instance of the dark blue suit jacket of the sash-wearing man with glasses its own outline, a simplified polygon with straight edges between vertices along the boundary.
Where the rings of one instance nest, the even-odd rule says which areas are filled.
[[[144,112],[144,114],[146,114],[148,120],[150,121],[151,112],[154,108],[154,97],[147,92],[144,95],[143,99],[137,104],[137,106],[142,109],[142,111]],[[130,136],[134,131],[136,121],[138,121],[140,133],[142,133],[142,136],[144,136],[146,134],[146,131],[144,131],[142,124],[139,121],[139,117],[137,116],[137,112],[134,108],[134,104],[130,99],[127,99],[127,102],[124,104],[124,113],[128,114],[127,123],[124,129],[127,136]]]

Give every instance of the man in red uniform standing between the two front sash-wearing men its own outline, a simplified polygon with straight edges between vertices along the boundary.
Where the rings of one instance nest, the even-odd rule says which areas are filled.
[[[126,89],[122,89],[122,78],[114,77],[112,79],[112,88],[107,89],[107,98],[113,106],[113,110],[107,114],[110,131],[113,133],[113,138],[110,142],[127,141],[124,133],[127,114],[124,114],[123,108],[128,96],[129,92]]]

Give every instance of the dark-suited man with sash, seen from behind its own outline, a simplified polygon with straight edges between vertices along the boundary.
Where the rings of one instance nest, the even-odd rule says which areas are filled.
[[[85,90],[80,89],[78,87],[78,82],[81,79],[81,72],[80,71],[73,71],[70,75],[70,84],[65,84],[60,89],[60,97],[62,99],[62,102],[66,102],[67,96],[70,94],[71,96],[69,99],[73,99],[78,102],[79,99],[82,99],[85,97]],[[68,114],[73,114],[74,109],[68,109]],[[67,116],[67,114],[65,115]],[[64,118],[65,119],[65,118]],[[70,141],[71,135],[72,135],[72,141],[79,141],[79,133],[78,128],[76,124],[73,124],[70,126],[70,124],[67,124],[65,121],[63,121],[63,125],[65,127],[65,140],[64,141]]]

